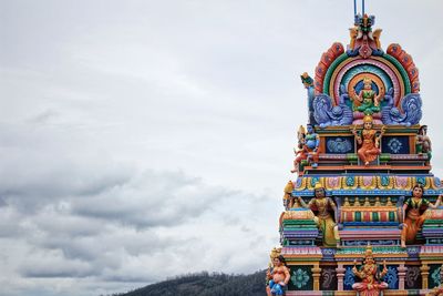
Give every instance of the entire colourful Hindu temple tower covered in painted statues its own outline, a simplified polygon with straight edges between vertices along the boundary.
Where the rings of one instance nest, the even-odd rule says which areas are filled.
[[[443,295],[443,185],[431,173],[419,70],[356,17],[308,92],[268,295]]]

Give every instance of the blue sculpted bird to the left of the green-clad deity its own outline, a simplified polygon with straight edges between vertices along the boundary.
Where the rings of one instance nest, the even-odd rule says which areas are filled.
[[[352,124],[352,110],[346,103],[349,94],[344,85],[341,85],[340,92],[339,104],[336,106],[332,106],[332,99],[327,94],[313,99],[313,116],[320,127]]]

